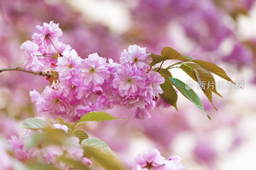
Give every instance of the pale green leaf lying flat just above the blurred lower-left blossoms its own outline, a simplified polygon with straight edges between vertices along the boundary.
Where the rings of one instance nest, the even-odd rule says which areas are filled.
[[[26,129],[47,129],[53,128],[52,124],[42,119],[28,118],[22,122],[19,127]]]

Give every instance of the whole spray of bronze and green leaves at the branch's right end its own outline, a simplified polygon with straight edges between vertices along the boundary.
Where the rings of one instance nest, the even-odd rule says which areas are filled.
[[[217,108],[214,106],[212,102],[212,92],[216,93],[220,97],[222,96],[217,92],[215,80],[209,71],[220,76],[221,78],[224,78],[228,81],[233,82],[228,77],[226,72],[223,69],[221,69],[219,66],[210,62],[195,60],[194,58],[189,57],[187,55],[181,55],[179,52],[177,52],[175,49],[171,47],[164,47],[161,51],[161,55],[151,53],[150,56],[152,58],[152,62],[150,63],[150,66],[154,66],[155,64],[164,62],[165,60],[181,61],[178,63],[174,63],[165,69],[161,68],[162,64],[160,68],[154,69],[165,78],[164,84],[160,85],[162,90],[164,91],[163,94],[160,94],[161,98],[164,99],[167,103],[169,103],[173,107],[175,107],[176,109],[177,109],[177,105],[176,105],[177,94],[173,86],[175,86],[183,96],[185,96],[188,100],[194,103],[201,111],[205,113],[202,101],[200,100],[198,95],[192,89],[187,90],[185,88],[185,83],[183,83],[179,79],[172,78],[172,74],[170,73],[169,69],[180,68],[184,72],[186,72],[192,79],[198,82],[205,96],[212,103],[213,107],[216,110]],[[174,65],[177,65],[177,64],[179,64],[180,67],[173,67]],[[209,116],[208,118],[211,119]]]

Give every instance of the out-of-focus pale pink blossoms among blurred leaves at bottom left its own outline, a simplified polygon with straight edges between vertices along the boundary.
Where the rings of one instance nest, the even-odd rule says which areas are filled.
[[[65,130],[66,133],[68,133],[68,127],[66,125],[54,124],[53,127]],[[30,138],[40,132],[42,131],[28,130],[27,133],[20,138],[12,136],[11,139],[8,139],[16,159],[22,162],[36,160],[38,163],[53,165],[62,170],[69,170],[70,166],[60,162],[58,159],[60,156],[81,161],[88,166],[92,165],[92,161],[84,157],[83,147],[79,144],[79,139],[75,136],[70,136],[69,141],[65,141],[65,143],[67,143],[66,145],[50,144],[44,147],[40,145],[30,146]]]

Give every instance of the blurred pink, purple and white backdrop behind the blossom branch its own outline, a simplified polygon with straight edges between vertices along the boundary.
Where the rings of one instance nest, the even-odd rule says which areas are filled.
[[[80,125],[128,167],[136,153],[156,147],[164,157],[179,155],[187,170],[255,170],[254,0],[1,0],[0,68],[22,66],[21,43],[31,39],[36,25],[52,20],[63,31],[60,40],[82,58],[98,52],[119,62],[129,45],[156,54],[168,46],[219,65],[235,81],[244,80],[244,89],[219,90],[223,98],[213,96],[218,112],[196,90],[212,120],[178,93],[179,112],[155,109],[150,119],[138,120],[135,110],[114,107],[106,112],[127,120]],[[180,70],[171,72],[183,81],[189,78]],[[8,139],[24,134],[16,125],[37,114],[29,91],[42,92],[48,82],[16,71],[2,72],[0,79],[0,133]]]

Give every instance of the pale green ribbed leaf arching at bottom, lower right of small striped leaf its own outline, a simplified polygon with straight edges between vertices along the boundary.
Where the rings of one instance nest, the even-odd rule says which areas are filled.
[[[88,139],[84,139],[81,143],[81,145],[83,147],[91,147],[91,148],[95,148],[98,149],[101,152],[104,152],[106,154],[108,154],[108,156],[111,156],[113,158],[116,158],[116,155],[114,154],[114,152],[108,147],[108,144],[106,144],[106,142],[103,142],[100,139],[96,139],[96,138],[88,138]]]

